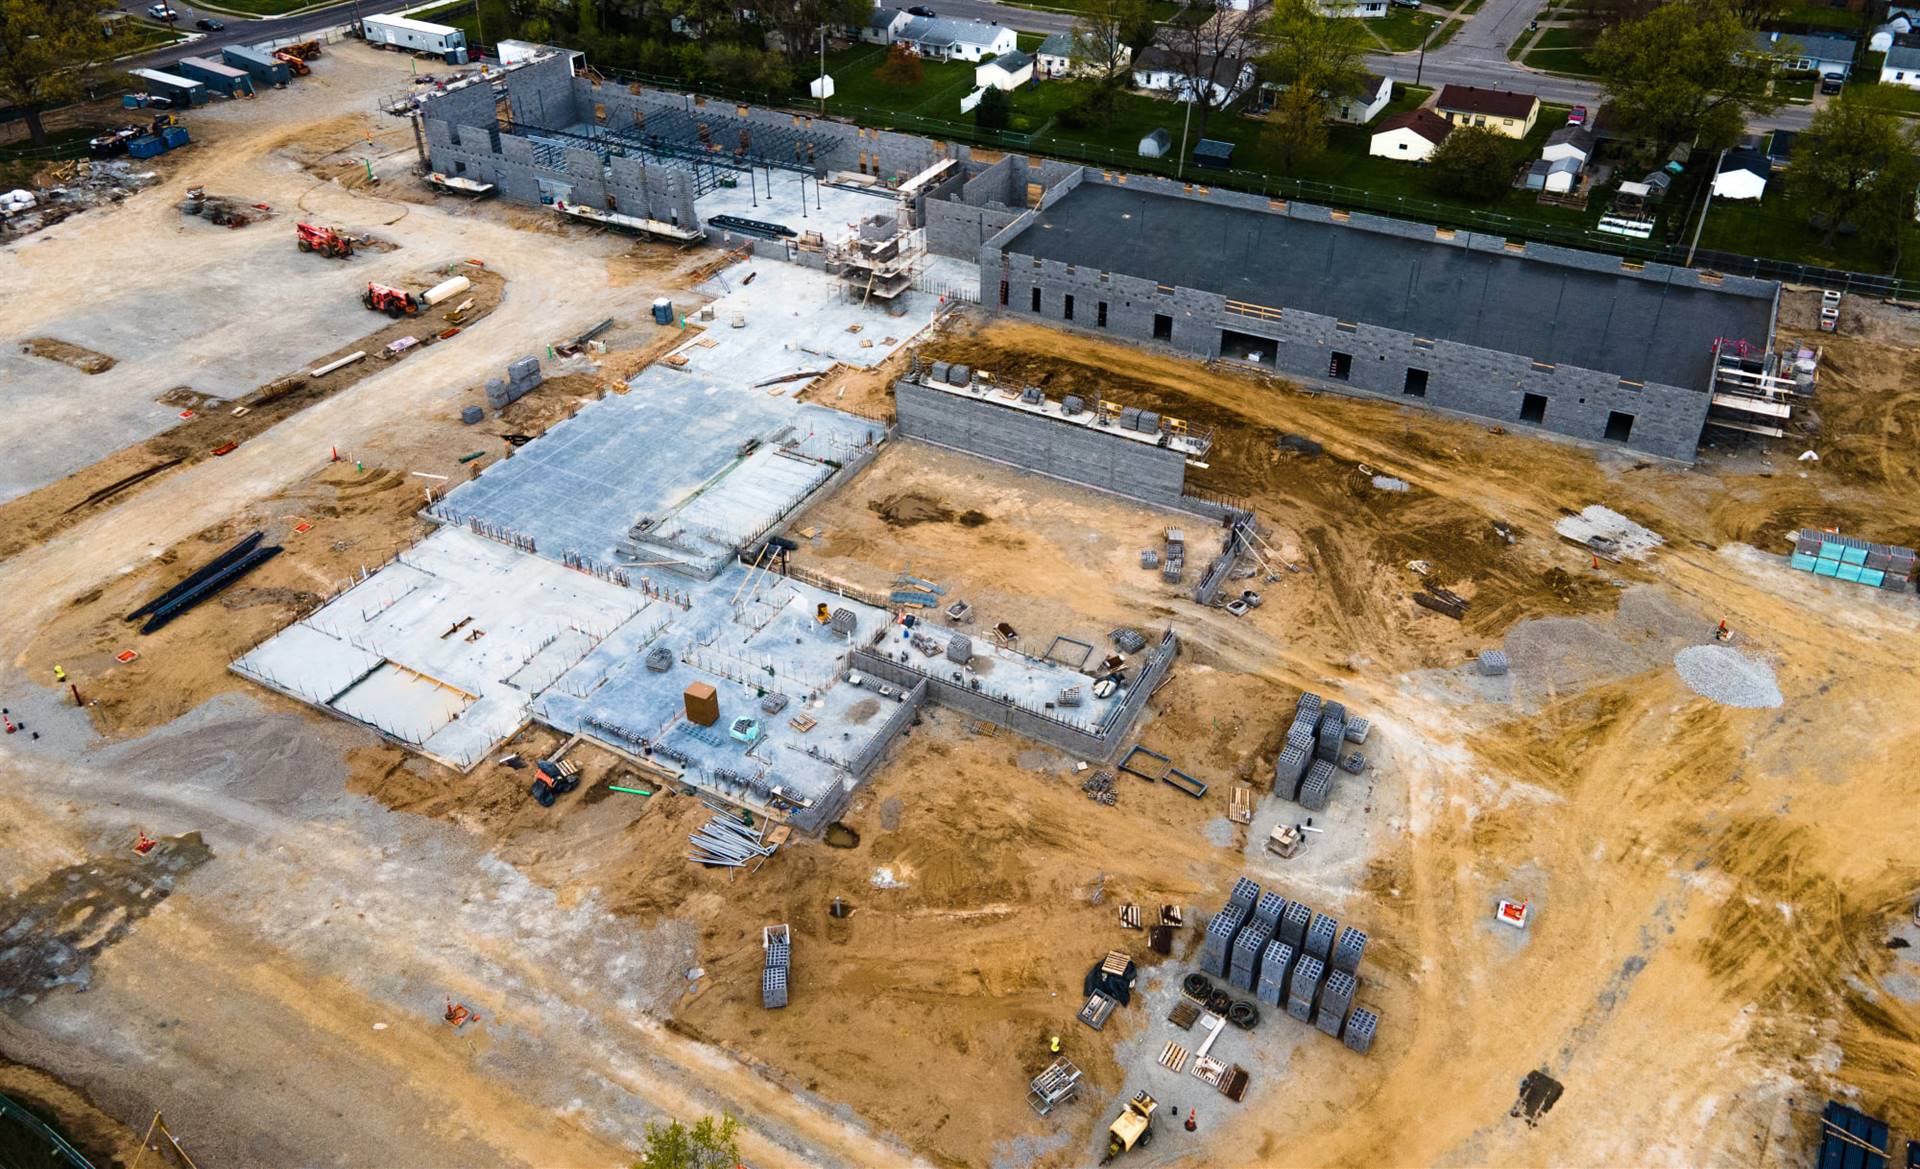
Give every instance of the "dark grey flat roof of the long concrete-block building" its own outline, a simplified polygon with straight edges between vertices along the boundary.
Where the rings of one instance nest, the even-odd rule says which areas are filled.
[[[1697,390],[1715,338],[1764,344],[1772,321],[1770,298],[1092,179],[1006,251]]]

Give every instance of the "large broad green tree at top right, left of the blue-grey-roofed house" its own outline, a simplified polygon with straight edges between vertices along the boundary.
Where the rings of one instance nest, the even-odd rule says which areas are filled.
[[[1620,125],[1659,144],[1732,146],[1749,113],[1772,113],[1772,65],[1745,48],[1751,33],[1728,0],[1674,0],[1605,29],[1588,60]]]

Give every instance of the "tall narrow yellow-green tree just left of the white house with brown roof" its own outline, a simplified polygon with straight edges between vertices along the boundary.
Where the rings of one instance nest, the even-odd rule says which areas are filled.
[[[1281,98],[1267,115],[1267,146],[1283,171],[1327,150],[1332,100],[1361,86],[1367,33],[1357,19],[1321,15],[1313,0],[1279,0],[1267,19],[1261,75]]]

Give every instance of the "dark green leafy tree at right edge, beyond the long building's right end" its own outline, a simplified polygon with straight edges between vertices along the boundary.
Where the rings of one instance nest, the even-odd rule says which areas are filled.
[[[1903,165],[1912,161],[1912,150],[1893,113],[1841,94],[1814,111],[1793,144],[1788,200],[1824,225],[1822,246],[1847,225],[1885,242],[1897,236],[1901,209],[1912,200],[1912,167]]]

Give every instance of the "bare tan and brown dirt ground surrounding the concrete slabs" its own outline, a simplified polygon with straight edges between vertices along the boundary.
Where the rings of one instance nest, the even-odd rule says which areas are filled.
[[[90,989],[42,977],[10,1004],[0,1056],[44,1073],[6,1069],[0,1086],[123,1159],[127,1129],[159,1106],[209,1163],[338,1140],[355,1163],[405,1150],[582,1165],[630,1161],[651,1115],[726,1108],[749,1121],[755,1165],[1079,1165],[1150,1075],[1137,1048],[1152,1021],[1129,1008],[1102,1033],[1075,1023],[1083,973],[1119,946],[1150,977],[1177,975],[1196,941],[1187,929],[1171,960],[1150,956],[1117,906],[1171,902],[1198,921],[1252,871],[1373,937],[1361,1000],[1382,1015],[1379,1042],[1363,1060],[1269,1019],[1236,1038],[1248,1100],[1177,1100],[1202,1102],[1200,1133],[1167,1123],[1129,1163],[1801,1163],[1828,1094],[1920,1136],[1920,987],[1887,946],[1920,893],[1920,779],[1901,764],[1920,747],[1901,685],[1914,601],[1780,561],[1803,524],[1920,541],[1920,332],[1903,313],[1855,305],[1839,336],[1809,334],[1824,361],[1811,436],[1713,445],[1692,468],[954,319],[924,357],[1212,428],[1194,488],[1258,509],[1273,580],[1244,587],[1267,603],[1202,610],[1139,568],[1171,522],[1198,539],[1192,520],[910,443],[795,524],[818,532],[801,562],[866,587],[912,570],[1037,641],[1171,624],[1181,656],[1139,739],[1210,791],[1119,775],[1117,804],[1100,806],[1077,760],[929,708],[847,812],[854,847],[797,839],[728,875],[684,858],[710,812],[609,752],[576,747],[582,789],[540,808],[524,770],[495,758],[455,775],[227,672],[411,543],[424,493],[472,474],[461,455],[507,457],[501,436],[541,432],[676,344],[645,305],[695,299],[687,284],[716,263],[420,194],[401,123],[338,115],[399,69],[340,50],[315,75],[332,92],[204,115],[190,165],[19,261],[29,284],[56,257],[61,280],[96,278],[152,234],[156,263],[184,265],[175,203],[196,182],[422,257],[482,255],[505,294],[453,344],[259,411],[271,424],[225,457],[202,457],[217,443],[196,432],[179,440],[186,463],[73,518],[56,505],[146,463],[8,505],[23,532],[0,549],[8,693],[46,739],[0,743],[0,893],[10,921],[50,925],[40,966],[4,969],[8,985],[84,969]],[[607,355],[553,363],[503,417],[459,422],[507,361],[609,315]],[[1811,324],[1803,299],[1786,322]],[[19,305],[0,324],[38,334]],[[806,395],[885,413],[895,372],[839,370]],[[1323,451],[1288,453],[1283,434]],[[1805,447],[1818,461],[1797,461]],[[1663,549],[1596,564],[1553,534],[1590,503]],[[286,553],[154,635],[121,620],[253,528]],[[1465,620],[1415,607],[1421,580],[1469,597]],[[1782,706],[1722,706],[1672,670],[1720,620],[1770,666]],[[1496,645],[1509,681],[1467,668]],[[125,649],[138,656],[119,662]],[[54,664],[84,720],[61,706]],[[1227,820],[1229,789],[1254,785],[1256,823],[1292,816],[1265,777],[1300,689],[1371,718],[1375,764],[1281,862]],[[538,729],[509,743],[557,747]],[[205,829],[211,856],[100,933],[81,914],[88,881],[56,877],[119,873],[136,827]],[[1498,896],[1532,902],[1526,933],[1492,921]],[[833,898],[852,914],[829,918]],[[760,929],[778,921],[795,933],[793,1004],[764,1012]],[[61,944],[84,962],[63,966]],[[490,1023],[445,1029],[442,994]],[[1025,1090],[1050,1035],[1087,1088],[1041,1119]],[[1534,1069],[1565,1094],[1526,1125],[1507,1109]]]

